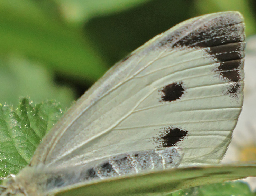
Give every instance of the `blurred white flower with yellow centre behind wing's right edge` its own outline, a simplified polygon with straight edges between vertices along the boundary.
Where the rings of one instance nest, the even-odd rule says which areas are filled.
[[[223,162],[256,161],[256,36],[247,39],[244,105]],[[252,190],[256,177],[244,179]]]

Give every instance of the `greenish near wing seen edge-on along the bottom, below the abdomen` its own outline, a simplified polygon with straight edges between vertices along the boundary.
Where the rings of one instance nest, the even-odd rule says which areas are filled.
[[[67,187],[49,194],[55,196],[159,196],[179,189],[256,176],[255,164],[219,165],[211,167],[177,168],[102,180]]]

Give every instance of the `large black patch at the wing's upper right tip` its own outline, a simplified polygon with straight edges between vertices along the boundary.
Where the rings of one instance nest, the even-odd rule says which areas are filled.
[[[211,61],[212,66],[219,66],[213,71],[221,83],[226,84],[223,85],[227,87],[223,92],[238,98],[244,79],[244,28],[244,19],[237,12],[205,15],[179,24],[170,33],[164,33],[159,38],[158,47],[202,52],[202,59]],[[231,87],[229,83],[237,84]],[[166,100],[168,98],[163,97],[161,101]]]

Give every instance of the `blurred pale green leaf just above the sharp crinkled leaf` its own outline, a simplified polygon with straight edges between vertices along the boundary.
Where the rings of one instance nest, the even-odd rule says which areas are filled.
[[[74,92],[53,82],[53,73],[39,63],[9,56],[0,58],[0,103],[17,103],[20,97],[29,96],[36,102],[57,100],[69,107]]]

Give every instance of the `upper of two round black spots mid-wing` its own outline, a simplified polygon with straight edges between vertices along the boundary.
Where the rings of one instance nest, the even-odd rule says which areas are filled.
[[[185,88],[183,87],[182,82],[179,83],[172,83],[169,85],[166,85],[164,88],[159,90],[161,92],[162,96],[160,99],[160,102],[162,101],[175,101],[177,99],[180,99],[180,97],[184,94]]]

